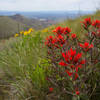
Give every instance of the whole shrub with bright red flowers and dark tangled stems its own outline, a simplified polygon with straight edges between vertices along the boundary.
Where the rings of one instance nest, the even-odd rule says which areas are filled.
[[[46,38],[51,73],[50,91],[59,100],[90,100],[100,87],[100,21],[86,18],[81,22],[86,34],[79,39],[68,27],[57,27]]]

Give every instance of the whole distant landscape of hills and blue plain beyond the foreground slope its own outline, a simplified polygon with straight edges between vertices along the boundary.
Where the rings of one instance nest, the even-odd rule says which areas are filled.
[[[92,11],[16,12],[0,11],[0,38],[9,38],[21,30],[32,27],[41,30],[52,24],[73,19]]]

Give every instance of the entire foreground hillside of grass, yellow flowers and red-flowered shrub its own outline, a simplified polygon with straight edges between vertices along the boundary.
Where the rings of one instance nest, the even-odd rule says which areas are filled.
[[[30,28],[7,40],[0,52],[0,100],[100,100],[98,16]]]

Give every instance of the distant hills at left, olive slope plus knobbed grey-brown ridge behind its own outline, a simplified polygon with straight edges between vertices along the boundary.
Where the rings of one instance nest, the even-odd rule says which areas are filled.
[[[20,14],[13,16],[0,16],[0,38],[11,37],[15,33],[18,33],[21,30],[27,30],[31,27],[35,30],[40,30],[49,25],[49,22],[39,21],[37,19],[28,19]]]

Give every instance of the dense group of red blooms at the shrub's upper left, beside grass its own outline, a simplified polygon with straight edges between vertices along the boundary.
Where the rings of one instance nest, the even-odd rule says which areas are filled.
[[[65,44],[65,39],[64,39],[64,35],[69,36],[69,33],[71,32],[70,28],[65,27],[57,27],[55,30],[53,30],[53,32],[55,32],[55,36],[49,36],[46,39],[45,45],[48,47],[57,47],[59,48],[59,46],[63,46]],[[73,36],[74,38],[75,36]]]

